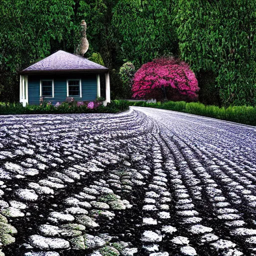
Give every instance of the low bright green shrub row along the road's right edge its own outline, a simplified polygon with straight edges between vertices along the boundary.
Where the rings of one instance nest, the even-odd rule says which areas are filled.
[[[163,103],[129,101],[129,105],[161,108],[256,126],[256,107],[252,106],[229,106],[224,108],[214,105],[204,105],[199,102],[187,103],[185,101],[167,101]]]

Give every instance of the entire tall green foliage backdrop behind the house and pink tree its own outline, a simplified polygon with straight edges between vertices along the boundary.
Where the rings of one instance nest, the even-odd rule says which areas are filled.
[[[203,103],[256,106],[255,9],[251,0],[1,0],[0,100],[18,101],[17,71],[59,49],[74,52],[84,19],[85,56],[99,54],[109,68],[111,98],[126,98],[123,62],[137,69],[174,55],[195,72]]]

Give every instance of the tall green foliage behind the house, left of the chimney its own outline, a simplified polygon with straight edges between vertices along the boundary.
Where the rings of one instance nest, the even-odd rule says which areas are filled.
[[[0,4],[0,99],[17,100],[16,71],[57,49],[72,51],[78,24],[73,1],[2,0]]]

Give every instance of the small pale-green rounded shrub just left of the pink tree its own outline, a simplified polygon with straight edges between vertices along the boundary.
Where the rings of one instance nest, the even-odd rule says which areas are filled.
[[[135,74],[135,67],[131,62],[125,62],[119,69],[120,79],[122,81],[122,90],[125,98],[131,98],[131,86]]]

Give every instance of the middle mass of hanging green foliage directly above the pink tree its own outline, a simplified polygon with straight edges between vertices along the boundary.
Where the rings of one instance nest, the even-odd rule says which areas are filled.
[[[118,55],[138,68],[153,58],[177,53],[174,0],[119,0],[113,8],[112,26],[120,41]]]

